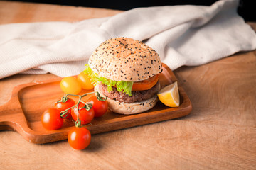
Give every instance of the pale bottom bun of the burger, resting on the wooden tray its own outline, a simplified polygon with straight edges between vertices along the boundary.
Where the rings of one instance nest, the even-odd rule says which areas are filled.
[[[99,91],[98,85],[95,86],[95,91]],[[100,93],[100,91],[99,91]],[[100,93],[100,96],[104,94]],[[135,103],[120,103],[119,101],[107,98],[107,104],[110,111],[123,115],[132,115],[135,113],[142,113],[153,108],[158,101],[158,97],[155,95],[145,101],[135,102]]]

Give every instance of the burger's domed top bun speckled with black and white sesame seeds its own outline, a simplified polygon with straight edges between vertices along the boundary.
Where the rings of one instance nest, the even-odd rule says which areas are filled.
[[[162,70],[156,51],[132,38],[111,38],[102,42],[88,64],[101,77],[115,81],[142,81]]]

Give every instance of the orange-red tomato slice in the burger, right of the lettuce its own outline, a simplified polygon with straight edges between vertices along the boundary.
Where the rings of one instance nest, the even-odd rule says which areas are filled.
[[[149,79],[145,79],[143,81],[135,81],[132,85],[132,91],[143,91],[151,89],[154,85],[156,85],[159,80],[159,74],[156,74],[154,77],[150,77]]]

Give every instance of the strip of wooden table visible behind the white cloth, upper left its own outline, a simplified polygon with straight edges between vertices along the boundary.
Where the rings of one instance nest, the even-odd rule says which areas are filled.
[[[15,11],[13,10],[15,9]],[[75,6],[57,6],[49,4],[21,4],[15,1],[0,1],[0,24],[28,23],[45,21],[76,22],[89,18],[114,16],[122,11],[84,8]]]

